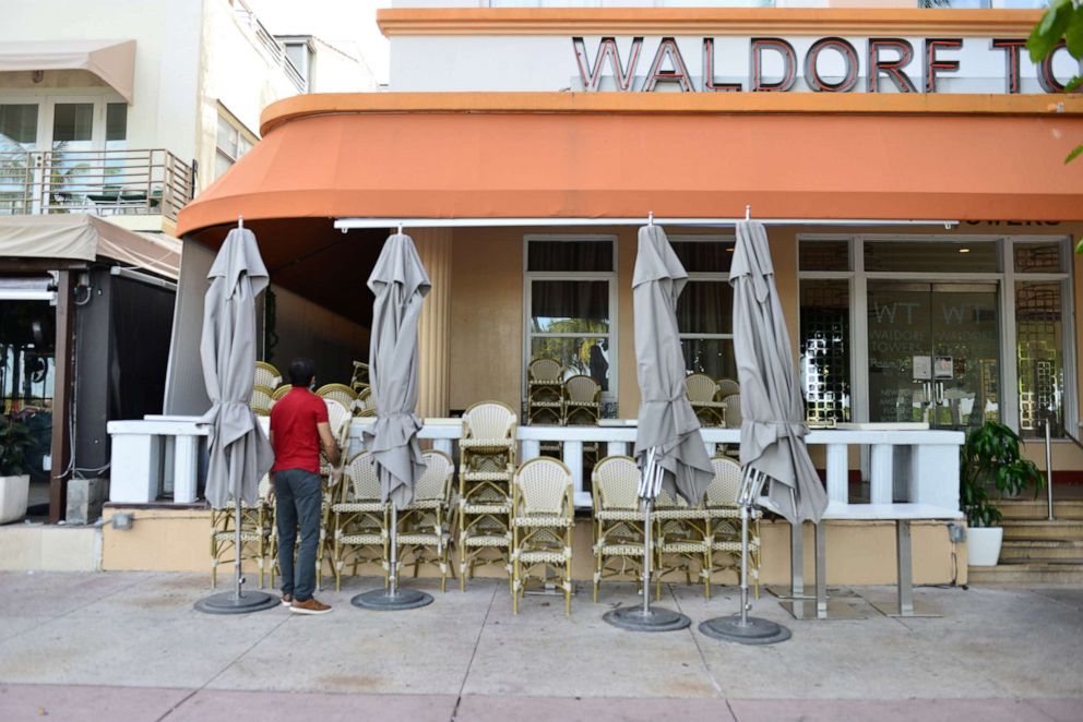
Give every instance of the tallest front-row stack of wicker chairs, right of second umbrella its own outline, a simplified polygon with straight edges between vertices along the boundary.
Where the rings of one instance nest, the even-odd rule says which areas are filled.
[[[515,412],[499,401],[466,409],[460,440],[459,585],[481,564],[502,565],[511,583],[511,479]]]

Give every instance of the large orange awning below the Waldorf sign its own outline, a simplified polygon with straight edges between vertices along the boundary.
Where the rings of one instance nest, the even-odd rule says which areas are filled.
[[[1075,100],[786,95],[300,96],[269,109],[264,139],[178,229],[238,215],[719,218],[746,204],[760,219],[1083,220],[1083,161],[1062,163],[1083,142]]]

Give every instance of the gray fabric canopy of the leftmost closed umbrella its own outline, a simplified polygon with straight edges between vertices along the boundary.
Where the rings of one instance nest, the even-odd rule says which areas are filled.
[[[271,444],[249,406],[255,380],[255,297],[270,281],[252,231],[229,231],[207,278],[200,359],[212,406],[201,422],[211,426],[206,498],[221,509],[230,496],[254,504],[260,479],[274,464]]]

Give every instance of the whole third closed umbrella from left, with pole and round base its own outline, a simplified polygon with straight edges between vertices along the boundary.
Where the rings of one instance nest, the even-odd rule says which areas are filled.
[[[687,616],[651,606],[651,506],[662,489],[699,504],[714,471],[700,436],[700,421],[685,393],[685,356],[677,328],[677,299],[688,273],[665,231],[640,228],[632,276],[635,363],[640,383],[635,458],[642,470],[643,606],[614,610],[605,619],[641,631],[682,629]]]

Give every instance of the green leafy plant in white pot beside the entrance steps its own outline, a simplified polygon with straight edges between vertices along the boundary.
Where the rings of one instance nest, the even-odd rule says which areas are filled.
[[[1020,455],[1022,440],[1002,423],[986,421],[966,434],[960,452],[959,500],[966,515],[967,551],[972,566],[996,566],[1004,530],[1002,515],[990,498],[1017,496],[1027,484],[1035,494],[1044,479],[1034,461]]]

